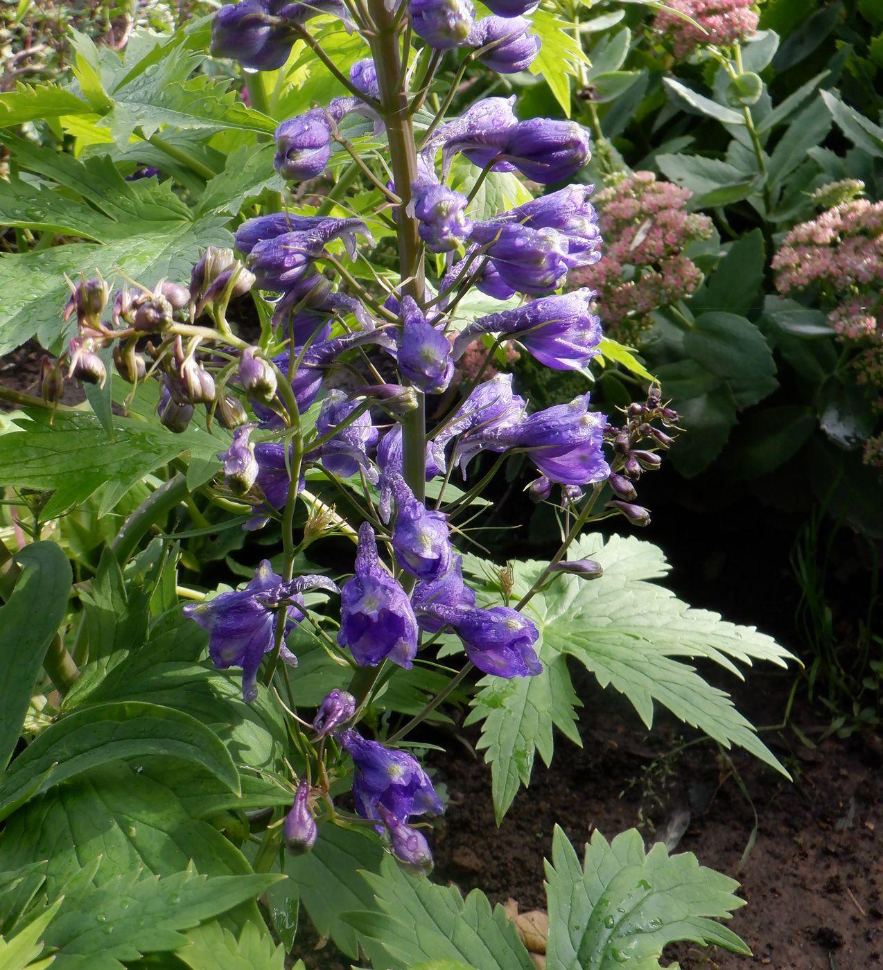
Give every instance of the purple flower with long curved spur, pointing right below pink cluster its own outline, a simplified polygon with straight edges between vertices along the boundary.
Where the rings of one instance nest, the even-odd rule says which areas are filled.
[[[518,339],[540,364],[555,371],[586,367],[602,338],[601,321],[589,311],[594,295],[592,290],[572,290],[479,317],[454,341],[454,356],[459,359],[481,334],[505,334]]]

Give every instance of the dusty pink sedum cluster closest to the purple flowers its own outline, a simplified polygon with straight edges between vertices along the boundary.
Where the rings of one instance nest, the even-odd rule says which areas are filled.
[[[598,312],[615,339],[639,343],[653,310],[690,296],[702,282],[683,250],[710,237],[711,220],[686,211],[690,195],[652,172],[635,172],[596,196],[604,258],[573,270],[570,281],[598,291]]]

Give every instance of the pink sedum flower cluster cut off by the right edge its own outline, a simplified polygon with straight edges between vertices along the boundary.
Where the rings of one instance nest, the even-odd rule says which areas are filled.
[[[801,222],[772,260],[780,293],[814,290],[828,322],[849,345],[860,385],[883,412],[883,202],[855,199]],[[883,435],[866,442],[865,461],[883,467]]]

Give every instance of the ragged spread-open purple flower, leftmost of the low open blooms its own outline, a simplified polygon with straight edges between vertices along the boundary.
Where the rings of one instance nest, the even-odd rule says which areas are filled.
[[[337,586],[324,576],[299,576],[285,582],[264,560],[251,582],[235,593],[222,593],[208,602],[184,606],[184,615],[209,631],[209,654],[219,669],[243,668],[243,699],[250,703],[257,696],[257,671],[264,654],[273,650],[278,626],[278,606],[285,600],[302,602],[304,590],[337,592]],[[287,608],[288,622],[303,619],[296,605]],[[285,663],[297,659],[282,644],[280,656]]]

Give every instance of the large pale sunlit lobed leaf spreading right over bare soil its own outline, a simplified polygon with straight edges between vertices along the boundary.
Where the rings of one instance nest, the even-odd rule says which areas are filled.
[[[716,613],[691,609],[648,582],[669,568],[661,551],[648,542],[613,536],[605,543],[598,534],[585,535],[573,544],[569,558],[595,560],[604,575],[592,582],[560,575],[531,600],[526,615],[540,632],[543,672],[521,681],[484,682],[473,700],[470,722],[483,721],[479,745],[495,768],[498,818],[517,784],[526,784],[533,749],[551,757],[552,710],[560,712],[558,727],[575,735],[570,677],[556,680],[559,671],[566,672],[562,662],[567,656],[583,663],[602,687],[611,685],[626,695],[647,727],[656,701],[719,743],[736,744],[784,770],[730,698],[682,658],[705,657],[741,676],[734,661],[766,660],[781,666],[791,656],[786,650],[752,627],[736,627]],[[467,555],[463,565],[479,580],[479,605],[499,603],[500,591],[487,578],[493,575],[493,564]],[[516,564],[511,598],[527,593],[544,566],[533,560]]]

